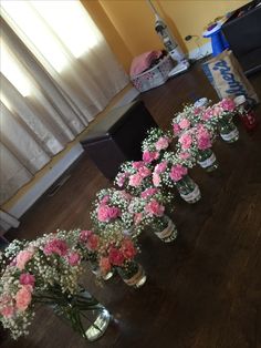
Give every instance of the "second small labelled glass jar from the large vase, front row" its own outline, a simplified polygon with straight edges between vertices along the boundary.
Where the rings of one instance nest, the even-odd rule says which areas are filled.
[[[152,224],[152,229],[165,243],[174,242],[177,238],[177,227],[167,215],[156,218]]]

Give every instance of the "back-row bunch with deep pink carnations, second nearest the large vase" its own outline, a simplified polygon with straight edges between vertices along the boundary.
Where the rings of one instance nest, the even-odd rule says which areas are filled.
[[[94,209],[91,217],[97,231],[108,228],[108,225],[116,224],[118,228],[129,229],[133,216],[128,211],[132,195],[125,190],[103,188],[96,193]]]

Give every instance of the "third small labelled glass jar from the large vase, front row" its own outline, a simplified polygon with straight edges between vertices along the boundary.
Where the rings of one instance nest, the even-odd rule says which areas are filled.
[[[189,176],[185,175],[175,185],[179,192],[180,197],[187,203],[196,203],[201,198],[201,193],[198,185]]]

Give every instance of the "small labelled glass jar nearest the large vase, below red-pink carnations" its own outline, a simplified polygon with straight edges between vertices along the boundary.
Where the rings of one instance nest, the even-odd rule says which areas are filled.
[[[135,260],[129,260],[123,267],[117,267],[117,272],[125,284],[139,288],[146,283],[146,274],[142,265]]]

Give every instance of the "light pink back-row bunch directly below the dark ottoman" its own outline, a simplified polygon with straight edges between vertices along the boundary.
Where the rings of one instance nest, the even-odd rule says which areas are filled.
[[[143,190],[152,186],[152,170],[153,165],[144,161],[124,162],[115,177],[115,185],[132,195],[139,195]]]

